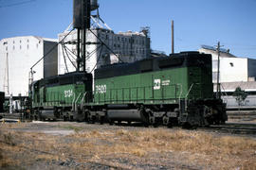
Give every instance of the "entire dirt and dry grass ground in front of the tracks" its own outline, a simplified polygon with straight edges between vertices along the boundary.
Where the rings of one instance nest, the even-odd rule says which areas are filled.
[[[0,169],[256,169],[256,138],[178,127],[1,124]]]

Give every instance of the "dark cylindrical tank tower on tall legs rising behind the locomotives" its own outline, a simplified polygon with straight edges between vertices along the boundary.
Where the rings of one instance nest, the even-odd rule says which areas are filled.
[[[73,27],[77,29],[77,72],[86,72],[86,30],[91,26],[91,0],[73,0]],[[81,40],[82,35],[82,40]],[[82,51],[81,51],[82,44]]]

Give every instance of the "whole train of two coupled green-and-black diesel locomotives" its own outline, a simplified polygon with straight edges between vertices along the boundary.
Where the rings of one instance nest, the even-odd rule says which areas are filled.
[[[74,72],[31,84],[31,116],[145,126],[224,124],[226,105],[214,97],[211,56],[169,57],[102,66],[95,76]]]

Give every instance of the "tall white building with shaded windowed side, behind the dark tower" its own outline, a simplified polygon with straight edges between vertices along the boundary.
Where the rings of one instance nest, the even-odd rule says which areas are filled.
[[[110,29],[93,28],[92,32],[88,30],[86,32],[88,43],[86,45],[86,71],[88,73],[93,74],[93,71],[102,65],[133,62],[150,56],[150,37],[147,29],[140,32],[127,31],[116,34]],[[59,34],[59,41],[62,41],[67,34],[68,31]],[[77,42],[77,32],[73,31],[65,38],[64,43],[59,44],[59,75],[76,70],[77,45],[75,42]]]

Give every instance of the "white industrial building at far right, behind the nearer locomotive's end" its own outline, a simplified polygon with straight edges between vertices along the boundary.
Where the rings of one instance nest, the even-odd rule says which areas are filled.
[[[218,73],[218,52],[216,48],[203,45],[198,50],[200,53],[212,56],[212,81],[216,82]],[[228,109],[256,109],[256,59],[238,58],[229,53],[229,50],[220,50],[220,83],[222,98],[227,103]],[[247,92],[247,99],[238,106],[238,102],[232,95],[237,87]]]

